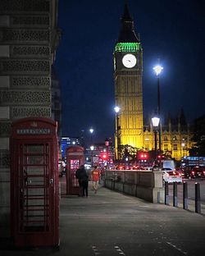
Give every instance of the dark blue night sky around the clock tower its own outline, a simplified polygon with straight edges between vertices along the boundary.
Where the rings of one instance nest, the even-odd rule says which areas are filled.
[[[114,137],[115,100],[112,53],[120,31],[123,0],[59,0],[62,39],[55,68],[62,86],[62,135],[93,142]],[[160,77],[162,113],[187,121],[205,113],[205,1],[129,0],[134,29],[144,48],[144,115],[157,107]]]

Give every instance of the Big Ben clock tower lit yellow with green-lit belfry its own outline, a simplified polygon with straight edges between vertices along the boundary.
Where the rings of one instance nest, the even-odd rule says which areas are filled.
[[[144,146],[143,49],[134,32],[134,21],[127,3],[113,56],[115,102],[120,107],[116,121],[116,145],[119,147],[120,141],[121,145],[128,144],[141,149]]]

